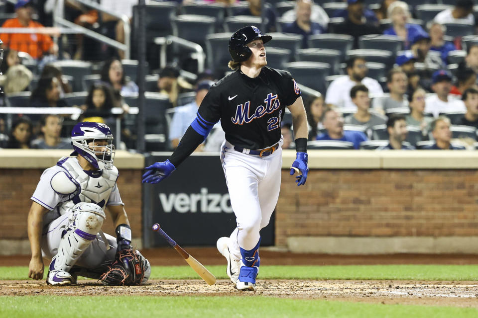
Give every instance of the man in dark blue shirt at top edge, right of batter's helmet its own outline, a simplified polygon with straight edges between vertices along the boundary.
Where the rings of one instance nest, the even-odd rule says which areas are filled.
[[[284,27],[284,33],[296,33],[302,35],[302,48],[309,47],[309,35],[324,33],[322,25],[311,21],[310,14],[312,12],[313,2],[311,0],[298,0],[296,4],[296,19]]]

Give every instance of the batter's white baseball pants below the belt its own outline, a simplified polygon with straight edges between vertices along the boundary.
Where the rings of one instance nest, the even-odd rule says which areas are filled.
[[[221,163],[238,224],[229,243],[229,251],[236,259],[241,258],[239,246],[250,250],[257,244],[259,231],[269,224],[277,204],[282,143],[281,139],[279,148],[262,158],[239,153],[228,141],[221,147]]]

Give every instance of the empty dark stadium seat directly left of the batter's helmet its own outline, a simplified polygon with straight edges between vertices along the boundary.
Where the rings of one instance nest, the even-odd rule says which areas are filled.
[[[232,33],[216,33],[206,36],[206,59],[210,70],[228,70],[228,62],[231,60],[228,44],[232,35]]]

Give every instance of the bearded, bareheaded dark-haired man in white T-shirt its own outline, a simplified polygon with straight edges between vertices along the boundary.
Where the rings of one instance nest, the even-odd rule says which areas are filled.
[[[347,61],[347,74],[334,79],[327,89],[325,103],[336,107],[357,108],[350,98],[350,90],[357,84],[364,84],[370,94],[383,93],[382,86],[376,79],[365,77],[368,69],[363,57],[354,56]]]

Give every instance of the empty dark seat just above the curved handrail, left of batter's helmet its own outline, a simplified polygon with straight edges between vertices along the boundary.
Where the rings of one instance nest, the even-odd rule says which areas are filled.
[[[182,14],[171,18],[173,35],[204,46],[206,35],[214,33],[216,18]]]

